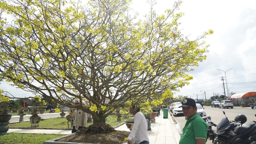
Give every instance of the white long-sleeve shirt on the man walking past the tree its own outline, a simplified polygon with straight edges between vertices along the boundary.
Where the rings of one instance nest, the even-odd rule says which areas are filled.
[[[134,115],[134,124],[132,131],[129,134],[128,140],[132,140],[135,137],[135,143],[139,144],[142,141],[148,141],[148,122],[145,116],[138,112]]]

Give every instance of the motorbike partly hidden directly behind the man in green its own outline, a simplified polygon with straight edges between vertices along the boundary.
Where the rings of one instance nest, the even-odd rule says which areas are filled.
[[[214,141],[214,138],[217,136],[216,132],[212,129],[212,126],[217,127],[217,125],[211,121],[211,116],[204,116],[202,117],[203,120],[207,123],[207,138],[206,141],[209,139],[210,141]]]

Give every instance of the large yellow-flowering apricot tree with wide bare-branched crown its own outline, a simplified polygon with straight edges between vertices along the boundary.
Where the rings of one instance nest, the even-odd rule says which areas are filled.
[[[0,0],[0,75],[12,86],[91,113],[93,124],[125,102],[172,97],[206,56],[178,29],[181,1],[137,20],[131,0]],[[162,94],[162,98],[154,95]],[[89,106],[74,105],[87,99]],[[109,102],[106,101],[109,99]],[[90,128],[89,128],[90,129]],[[107,133],[107,131],[99,132]]]

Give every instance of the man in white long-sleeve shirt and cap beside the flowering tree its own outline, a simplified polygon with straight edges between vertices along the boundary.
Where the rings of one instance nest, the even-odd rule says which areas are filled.
[[[148,123],[145,116],[140,112],[140,108],[136,106],[130,107],[130,113],[134,115],[134,123],[126,142],[132,144],[131,140],[135,137],[136,144],[149,144]]]

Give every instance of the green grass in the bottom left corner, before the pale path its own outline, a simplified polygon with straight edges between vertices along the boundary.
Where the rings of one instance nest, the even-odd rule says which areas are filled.
[[[36,144],[61,137],[65,134],[19,134],[8,133],[0,136],[0,144]]]

